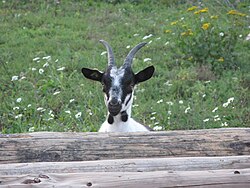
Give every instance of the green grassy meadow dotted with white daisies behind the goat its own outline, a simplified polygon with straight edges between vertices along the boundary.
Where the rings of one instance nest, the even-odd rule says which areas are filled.
[[[239,1],[0,1],[0,133],[97,131],[106,118],[104,39],[134,71],[132,116],[154,130],[250,127],[250,3]]]

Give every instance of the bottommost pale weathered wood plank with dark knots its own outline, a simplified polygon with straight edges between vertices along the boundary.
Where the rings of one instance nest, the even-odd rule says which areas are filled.
[[[250,169],[209,171],[88,172],[0,177],[1,187],[202,187],[247,188]],[[36,183],[35,183],[36,182]],[[26,184],[25,184],[26,183]]]

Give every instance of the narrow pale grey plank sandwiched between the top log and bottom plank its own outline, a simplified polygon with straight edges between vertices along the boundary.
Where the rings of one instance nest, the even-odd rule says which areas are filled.
[[[201,171],[250,168],[250,155],[0,164],[0,176],[41,173]]]

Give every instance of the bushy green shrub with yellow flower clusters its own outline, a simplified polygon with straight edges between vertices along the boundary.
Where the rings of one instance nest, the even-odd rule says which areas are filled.
[[[196,6],[187,9],[185,16],[170,22],[165,31],[174,41],[184,61],[208,66],[216,74],[225,69],[237,69],[236,45],[242,37],[246,14],[230,10],[214,15],[209,8]],[[224,23],[224,24],[223,24]]]

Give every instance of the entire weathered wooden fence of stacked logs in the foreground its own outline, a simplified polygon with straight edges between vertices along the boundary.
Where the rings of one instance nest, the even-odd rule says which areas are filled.
[[[0,187],[248,187],[250,129],[0,135]]]

